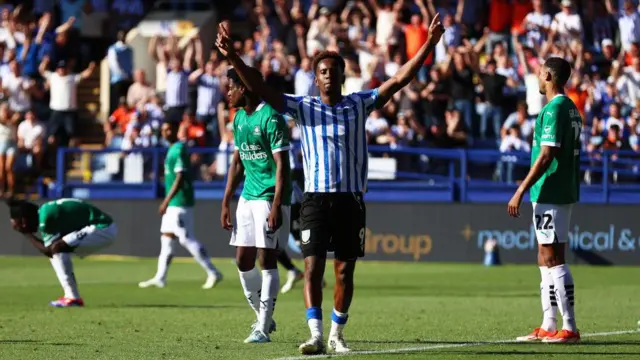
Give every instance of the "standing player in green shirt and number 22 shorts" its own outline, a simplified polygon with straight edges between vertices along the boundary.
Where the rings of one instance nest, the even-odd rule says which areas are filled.
[[[547,96],[533,134],[531,170],[508,205],[509,215],[520,216],[524,194],[531,190],[533,225],[538,240],[542,325],[518,341],[573,343],[580,340],[574,316],[573,277],[565,264],[573,204],[580,200],[580,133],[582,119],[576,105],[564,94],[571,65],[549,58],[540,69],[540,93]],[[556,330],[556,310],[562,329]]]

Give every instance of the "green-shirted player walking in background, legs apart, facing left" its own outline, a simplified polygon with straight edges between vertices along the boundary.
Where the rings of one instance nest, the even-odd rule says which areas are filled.
[[[193,206],[195,197],[193,180],[189,173],[187,145],[178,141],[178,123],[162,124],[162,137],[171,144],[164,161],[164,186],[166,196],[160,205],[160,256],[156,275],[138,284],[141,288],[167,283],[167,272],[173,259],[176,239],[196,259],[207,273],[203,289],[211,289],[222,280],[222,274],[213,266],[207,250],[196,240],[194,232]]]

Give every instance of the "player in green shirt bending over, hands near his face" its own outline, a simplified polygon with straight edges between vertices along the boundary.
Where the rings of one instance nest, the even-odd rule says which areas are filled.
[[[116,238],[116,224],[97,207],[77,199],[59,199],[42,206],[9,200],[13,228],[51,261],[64,296],[51,301],[54,307],[84,306],[73,272],[71,253],[80,258],[103,249]],[[40,231],[42,239],[36,236]]]

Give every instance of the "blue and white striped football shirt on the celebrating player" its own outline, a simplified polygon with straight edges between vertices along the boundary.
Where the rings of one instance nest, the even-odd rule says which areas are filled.
[[[378,89],[344,96],[335,106],[319,97],[284,97],[285,112],[302,130],[304,191],[365,192],[369,156],[364,125]]]

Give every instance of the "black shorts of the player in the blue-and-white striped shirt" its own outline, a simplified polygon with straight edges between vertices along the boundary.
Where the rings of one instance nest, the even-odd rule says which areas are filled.
[[[342,261],[364,256],[366,207],[361,193],[305,193],[300,208],[302,254]]]

